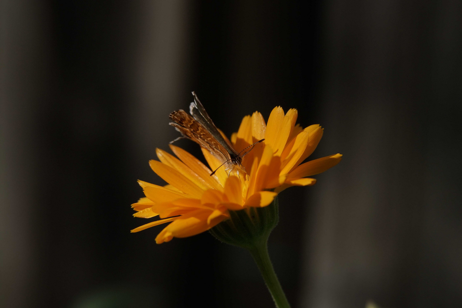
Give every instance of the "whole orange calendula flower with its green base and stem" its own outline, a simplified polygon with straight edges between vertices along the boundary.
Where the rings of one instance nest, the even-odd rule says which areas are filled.
[[[207,113],[195,96],[195,103],[191,104],[191,115],[195,118],[183,110],[170,116],[183,135],[207,147],[209,144],[204,142],[211,137],[198,139],[196,135],[201,132],[207,135],[207,129],[198,121],[214,127],[204,114]],[[157,149],[159,161],[151,160],[149,164],[168,185],[139,181],[146,197],[132,207],[137,211],[135,217],[158,216],[161,219],[132,232],[170,223],[156,237],[160,244],[173,237],[193,236],[210,230],[220,241],[249,250],[276,307],[290,308],[267,251],[268,236],[279,220],[277,194],[287,187],[315,184],[316,180],[309,176],[333,167],[342,156],[334,154],[303,163],[316,149],[323,128],[319,125],[302,128],[296,121],[296,109],[284,114],[280,107],[273,109],[267,124],[259,112],[245,116],[238,132],[231,135],[231,141],[220,132],[236,150],[233,153],[239,153],[237,158],[233,156],[231,162],[234,163],[227,160],[224,167],[221,167],[224,163],[221,156],[225,154],[212,153],[214,147],[209,148],[210,151],[202,148],[210,169],[177,146],[170,145],[177,158]]]

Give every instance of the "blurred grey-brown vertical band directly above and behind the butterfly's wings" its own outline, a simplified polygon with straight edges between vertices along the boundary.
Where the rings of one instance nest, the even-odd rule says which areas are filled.
[[[168,125],[175,109],[191,101],[188,73],[191,60],[191,3],[184,0],[140,2],[138,49],[133,82],[134,147],[138,162],[155,157],[178,133]]]

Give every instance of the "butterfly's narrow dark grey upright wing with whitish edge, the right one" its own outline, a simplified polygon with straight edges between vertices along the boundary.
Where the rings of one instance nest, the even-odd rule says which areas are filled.
[[[213,123],[210,116],[205,111],[204,106],[202,106],[201,101],[197,97],[196,93],[193,91],[194,102],[189,105],[189,113],[198,121],[202,127],[207,129],[207,131],[212,134],[212,136],[219,142],[219,144],[228,152],[231,158],[236,158],[239,154],[233,149],[233,147],[223,138],[218,128]]]

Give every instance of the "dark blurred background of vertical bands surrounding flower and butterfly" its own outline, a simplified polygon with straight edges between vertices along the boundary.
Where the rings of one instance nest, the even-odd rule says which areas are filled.
[[[0,7],[0,307],[272,307],[249,254],[157,245],[130,204],[196,91],[228,135],[297,108],[342,153],[280,195],[294,308],[462,306],[462,2],[38,1]],[[178,145],[199,155],[188,140]]]

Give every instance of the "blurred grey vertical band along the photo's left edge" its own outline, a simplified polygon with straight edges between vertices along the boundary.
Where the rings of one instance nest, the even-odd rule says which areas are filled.
[[[43,1],[0,3],[0,306],[32,307],[36,113],[48,95],[49,12]]]

